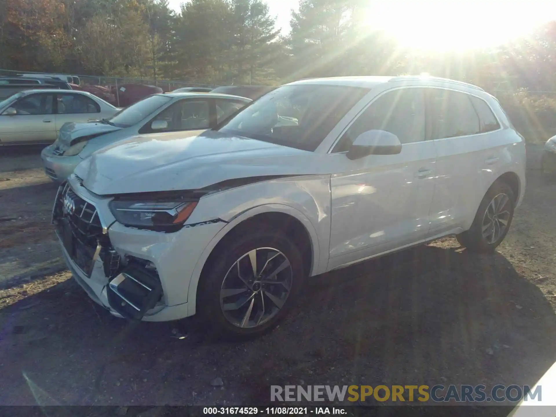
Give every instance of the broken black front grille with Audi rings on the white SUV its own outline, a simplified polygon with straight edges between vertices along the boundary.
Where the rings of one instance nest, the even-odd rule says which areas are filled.
[[[103,261],[105,275],[116,276],[120,256],[113,250],[108,235],[103,233],[96,207],[78,196],[68,183],[58,189],[52,219],[72,261],[87,276],[91,275],[98,257]],[[66,228],[71,232],[71,239],[64,237]]]

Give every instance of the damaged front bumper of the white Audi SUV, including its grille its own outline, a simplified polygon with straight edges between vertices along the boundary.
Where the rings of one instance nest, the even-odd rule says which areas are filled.
[[[112,219],[107,224],[102,220],[107,212],[101,216],[103,204],[86,200],[84,194],[63,183],[52,221],[64,260],[91,299],[111,314],[132,320],[167,321],[194,314],[188,311],[187,291],[188,271],[191,274],[199,256],[195,246],[181,246],[176,252],[180,246],[168,241],[177,240],[177,234],[132,229]],[[221,227],[212,225],[214,231]]]

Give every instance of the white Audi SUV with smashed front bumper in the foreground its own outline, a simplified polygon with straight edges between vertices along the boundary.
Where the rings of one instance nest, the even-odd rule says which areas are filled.
[[[261,334],[304,277],[456,235],[493,251],[525,188],[498,101],[434,77],[293,82],[211,130],[132,137],[58,190],[53,222],[79,284],[113,315],[198,315]]]

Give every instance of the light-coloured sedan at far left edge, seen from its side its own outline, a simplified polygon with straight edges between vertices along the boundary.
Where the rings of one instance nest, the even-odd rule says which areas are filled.
[[[85,91],[21,91],[0,101],[0,145],[52,143],[65,123],[102,120],[118,110]]]

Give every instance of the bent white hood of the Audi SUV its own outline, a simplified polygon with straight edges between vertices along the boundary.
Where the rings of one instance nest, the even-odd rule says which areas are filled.
[[[206,131],[136,136],[93,153],[75,173],[98,195],[195,190],[252,176],[325,173],[314,152]]]

